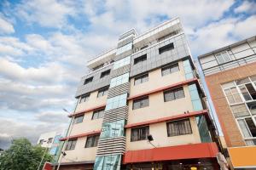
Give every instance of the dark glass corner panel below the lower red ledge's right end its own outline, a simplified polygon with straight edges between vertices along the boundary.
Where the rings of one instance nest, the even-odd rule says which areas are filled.
[[[207,120],[205,116],[196,116],[197,127],[199,130],[201,142],[212,142],[211,135],[207,126]]]

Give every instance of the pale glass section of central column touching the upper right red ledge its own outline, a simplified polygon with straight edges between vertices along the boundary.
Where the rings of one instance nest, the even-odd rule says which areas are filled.
[[[126,105],[127,94],[121,94],[107,100],[106,111]]]

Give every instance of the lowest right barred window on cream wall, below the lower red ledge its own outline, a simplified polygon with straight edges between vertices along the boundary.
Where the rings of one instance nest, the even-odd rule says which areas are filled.
[[[189,119],[183,119],[180,121],[167,122],[167,135],[171,136],[179,136],[184,134],[191,134],[192,129],[190,126]]]

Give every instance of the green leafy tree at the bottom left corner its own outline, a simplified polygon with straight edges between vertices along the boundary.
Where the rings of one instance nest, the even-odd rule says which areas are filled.
[[[40,145],[33,146],[28,139],[15,139],[9,150],[4,150],[0,156],[0,170],[37,170],[44,156],[42,169],[45,161],[52,160],[49,152],[44,155],[45,150]]]

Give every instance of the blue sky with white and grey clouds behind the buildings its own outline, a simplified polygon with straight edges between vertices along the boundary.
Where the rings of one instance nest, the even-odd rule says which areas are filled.
[[[67,127],[86,61],[177,16],[194,58],[256,34],[255,1],[1,0],[0,148]]]

